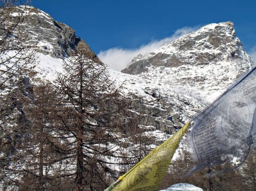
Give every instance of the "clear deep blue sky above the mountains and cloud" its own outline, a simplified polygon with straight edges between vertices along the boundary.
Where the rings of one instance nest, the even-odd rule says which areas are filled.
[[[177,31],[232,21],[244,49],[256,58],[255,0],[34,0],[32,5],[71,26],[101,56],[108,50],[135,54]]]

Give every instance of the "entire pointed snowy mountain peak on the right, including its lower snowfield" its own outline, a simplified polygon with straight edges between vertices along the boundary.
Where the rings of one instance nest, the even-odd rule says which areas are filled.
[[[253,67],[232,22],[212,23],[135,57],[122,72],[212,103]]]

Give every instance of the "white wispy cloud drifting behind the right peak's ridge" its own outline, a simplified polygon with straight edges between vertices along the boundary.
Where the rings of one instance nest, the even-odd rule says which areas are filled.
[[[123,49],[122,47],[113,47],[109,50],[100,51],[98,57],[100,60],[110,66],[110,68],[121,71],[126,68],[130,61],[139,53],[150,53],[153,50],[158,49],[162,45],[169,43],[181,35],[191,33],[198,27],[184,27],[178,29],[171,37],[167,37],[161,40],[153,40],[149,44],[141,45],[138,49]]]

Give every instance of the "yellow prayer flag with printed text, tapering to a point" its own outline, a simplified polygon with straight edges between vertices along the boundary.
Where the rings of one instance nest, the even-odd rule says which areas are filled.
[[[179,146],[180,139],[187,127],[189,127],[189,123],[178,130],[178,132],[162,145],[151,151],[126,174],[118,178],[116,183],[111,184],[109,188],[105,189],[105,191],[158,190],[158,187],[166,174],[170,160]]]

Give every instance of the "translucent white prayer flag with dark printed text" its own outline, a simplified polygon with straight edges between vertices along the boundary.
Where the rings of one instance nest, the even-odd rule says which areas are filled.
[[[254,67],[193,120],[189,146],[197,166],[189,174],[215,164],[242,164],[255,141],[255,108]]]

